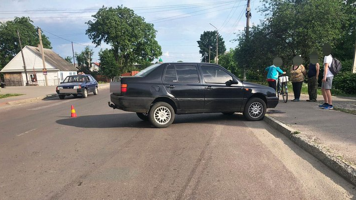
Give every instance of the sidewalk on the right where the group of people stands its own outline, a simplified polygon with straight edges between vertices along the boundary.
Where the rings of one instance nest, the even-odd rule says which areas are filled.
[[[289,99],[293,100],[293,94],[289,94]],[[325,110],[318,107],[323,103],[323,97],[318,96],[318,102],[307,102],[307,95],[301,95],[299,102],[288,100],[284,103],[282,100],[276,108],[267,110],[267,118],[265,121],[274,123],[270,117],[282,122],[282,125],[277,125],[280,129],[287,125],[287,129],[291,127],[289,137],[291,140],[304,140],[302,147],[304,150],[313,151],[311,149],[319,148],[324,155],[315,155],[315,157],[324,159],[325,156],[330,156],[335,162],[341,163],[346,167],[346,171],[352,172],[349,178],[341,173],[350,182],[356,184],[356,115],[348,114],[336,110]],[[336,108],[356,110],[356,98],[348,97],[333,97],[333,106]],[[269,119],[268,119],[269,118]],[[272,119],[273,120],[273,119]],[[281,131],[282,132],[282,131]],[[285,134],[286,135],[286,134]],[[288,135],[288,134],[287,134]],[[297,142],[296,142],[297,143]],[[299,144],[298,144],[299,145]],[[300,146],[300,145],[299,145]],[[309,152],[309,151],[308,151]],[[330,161],[330,160],[329,160]],[[327,161],[327,162],[329,162]],[[324,162],[325,163],[325,162]],[[340,166],[332,166],[335,163],[325,163],[333,170],[340,174]],[[348,172],[348,173],[349,173]]]

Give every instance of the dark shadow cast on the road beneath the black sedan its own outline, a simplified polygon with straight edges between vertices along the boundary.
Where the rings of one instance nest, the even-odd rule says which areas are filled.
[[[245,121],[245,118],[239,113],[233,115],[223,115],[221,113],[182,114],[176,115],[173,124],[208,123],[234,125],[236,121],[242,122]],[[153,128],[149,121],[141,120],[136,113],[78,116],[76,118],[59,119],[56,123],[80,128]]]

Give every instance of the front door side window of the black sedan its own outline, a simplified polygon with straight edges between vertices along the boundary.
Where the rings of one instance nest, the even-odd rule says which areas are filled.
[[[233,80],[232,76],[217,66],[202,65],[201,70],[206,83],[226,83]]]

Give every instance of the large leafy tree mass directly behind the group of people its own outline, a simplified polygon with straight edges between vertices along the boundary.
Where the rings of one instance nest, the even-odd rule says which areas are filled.
[[[301,55],[306,65],[309,54],[317,51],[321,61],[323,44],[329,43],[336,49],[345,36],[347,15],[343,0],[263,0],[263,3],[260,11],[265,19],[251,28],[249,38],[241,33],[237,39],[237,63],[252,69],[251,73],[271,65],[274,57],[282,57],[283,70],[287,71],[295,55]],[[264,77],[262,72],[257,75]]]

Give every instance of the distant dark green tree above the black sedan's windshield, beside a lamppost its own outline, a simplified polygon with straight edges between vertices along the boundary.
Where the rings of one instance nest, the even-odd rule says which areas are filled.
[[[200,48],[199,53],[202,58],[201,61],[209,60],[209,47],[210,49],[210,60],[215,60],[216,57],[216,31],[204,31],[200,35],[200,40],[196,41],[198,47]],[[218,54],[223,54],[226,51],[225,42],[223,37],[218,35]],[[208,62],[208,61],[207,61]]]

